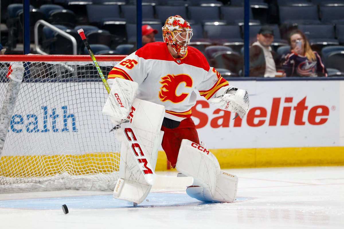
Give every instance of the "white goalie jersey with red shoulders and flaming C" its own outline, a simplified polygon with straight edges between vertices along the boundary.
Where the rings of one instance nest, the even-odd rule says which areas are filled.
[[[163,42],[146,44],[112,68],[107,79],[110,88],[116,77],[137,82],[136,97],[164,105],[165,117],[175,121],[191,116],[195,90],[210,99],[228,86],[199,50],[188,47],[183,58],[175,59]]]

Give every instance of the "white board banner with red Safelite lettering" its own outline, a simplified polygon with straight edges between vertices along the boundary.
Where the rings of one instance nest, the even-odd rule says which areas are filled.
[[[244,119],[199,96],[193,120],[209,149],[343,146],[341,81],[233,81],[249,93]],[[343,89],[343,88],[342,88]],[[342,104],[341,104],[342,103]]]

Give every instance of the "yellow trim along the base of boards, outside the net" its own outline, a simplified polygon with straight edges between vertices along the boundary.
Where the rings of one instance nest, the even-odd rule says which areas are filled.
[[[221,168],[262,168],[344,165],[344,147],[295,147],[210,149]],[[156,170],[168,170],[164,151],[159,151]],[[166,160],[166,161],[164,161]]]

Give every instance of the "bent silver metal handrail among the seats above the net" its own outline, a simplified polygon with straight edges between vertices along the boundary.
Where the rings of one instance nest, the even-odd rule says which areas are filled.
[[[36,52],[38,54],[42,54],[42,55],[48,55],[48,53],[45,53],[39,46],[38,44],[38,26],[39,25],[44,25],[49,27],[51,30],[55,31],[56,33],[60,34],[61,36],[64,36],[65,38],[71,40],[72,44],[73,44],[73,55],[77,55],[77,43],[76,43],[76,39],[72,36],[69,35],[68,33],[64,32],[63,30],[60,30],[59,28],[55,27],[54,25],[44,21],[44,20],[38,20],[35,24],[35,28],[34,28],[34,36],[35,36],[35,49]]]

